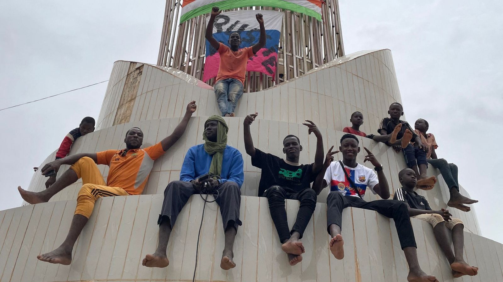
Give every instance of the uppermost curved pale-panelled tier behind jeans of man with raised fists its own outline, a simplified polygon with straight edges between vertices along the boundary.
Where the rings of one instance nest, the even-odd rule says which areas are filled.
[[[191,100],[198,102],[195,115],[220,115],[208,84],[176,69],[117,61],[96,128],[180,117]],[[258,111],[264,119],[295,123],[310,119],[320,127],[342,131],[358,110],[366,121],[362,130],[375,133],[392,102],[401,98],[391,51],[362,51],[275,87],[244,93],[236,116]]]

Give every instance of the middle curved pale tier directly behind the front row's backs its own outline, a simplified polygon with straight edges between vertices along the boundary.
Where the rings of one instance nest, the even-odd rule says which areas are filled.
[[[161,158],[155,161],[152,173],[150,174],[149,181],[145,186],[143,194],[162,194],[164,188],[167,184],[173,180],[179,180],[180,168],[182,167],[183,159],[187,150],[195,145],[202,144],[202,132],[204,127],[204,122],[207,117],[192,117],[186,133],[178,140],[178,142],[168,150]],[[237,148],[244,161],[244,183],[241,187],[241,193],[245,196],[257,196],[258,195],[258,185],[261,176],[261,170],[251,165],[250,157],[246,154],[243,144],[243,118],[241,117],[224,117],[229,125],[229,136],[228,144],[232,147]],[[160,142],[162,138],[167,136],[169,132],[176,127],[179,123],[180,118],[163,118],[156,120],[144,120],[131,122],[126,124],[119,124],[104,128],[93,133],[89,133],[85,136],[78,138],[75,144],[71,148],[71,154],[75,153],[90,153],[90,152],[100,152],[110,149],[121,149],[124,146],[124,136],[126,131],[134,126],[138,126],[143,129],[145,137],[143,140],[144,147],[148,147],[157,142]],[[342,131],[336,131],[333,129],[320,128],[323,134],[323,142],[325,145],[325,152],[328,151],[332,145],[339,146],[339,140],[342,135],[345,134]],[[254,139],[254,145],[264,151],[277,156],[283,156],[281,140],[284,136],[288,134],[295,134],[299,136],[303,151],[300,154],[300,162],[308,163],[312,162],[314,159],[314,154],[316,151],[316,137],[307,134],[307,127],[291,122],[267,120],[267,119],[257,119],[253,125],[251,125],[251,133],[253,136],[257,136]],[[371,150],[378,160],[383,164],[386,177],[390,183],[392,193],[400,188],[400,183],[398,181],[398,172],[401,169],[406,168],[403,155],[401,153],[396,153],[392,148],[382,144],[376,143],[373,140],[365,137],[358,136],[360,139],[360,145],[365,146]],[[336,160],[342,158],[342,153],[338,153]],[[45,163],[54,160],[55,152],[49,156],[39,167],[43,167]],[[362,147],[362,153],[358,155],[357,161],[363,165],[373,168],[369,163],[363,163],[364,153]],[[311,161],[310,161],[311,160]],[[100,165],[98,166],[102,172],[104,178],[108,175],[108,166]],[[59,175],[68,169],[69,166],[62,166]],[[437,169],[430,166],[429,175],[436,175],[439,179],[442,179],[442,175]],[[28,190],[38,192],[45,190],[45,178],[40,173],[35,173]],[[61,200],[75,200],[77,198],[78,191],[82,182],[79,180],[75,184],[70,185],[63,191],[56,194],[51,201],[61,201]],[[461,188],[463,195],[469,197],[468,193]],[[447,207],[447,201],[449,200],[449,190],[445,182],[439,181],[433,190],[428,192],[420,192],[429,200],[432,208],[440,209]],[[318,202],[326,203],[326,196],[328,194],[328,187],[325,188],[318,196]],[[367,200],[377,200],[379,197],[368,193],[366,195]],[[462,219],[465,222],[466,229],[475,234],[480,234],[478,222],[476,220],[475,205],[469,205],[472,211],[466,213],[459,211],[457,209],[451,209],[452,214],[455,217]]]

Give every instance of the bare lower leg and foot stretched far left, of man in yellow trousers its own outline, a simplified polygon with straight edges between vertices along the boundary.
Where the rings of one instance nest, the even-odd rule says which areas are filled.
[[[56,193],[75,183],[77,179],[77,174],[73,170],[68,169],[63,173],[63,175],[61,175],[60,178],[56,180],[56,182],[54,182],[53,185],[41,192],[26,191],[21,188],[21,186],[18,187],[18,191],[23,200],[29,204],[45,203],[48,202],[52,196],[56,195]]]

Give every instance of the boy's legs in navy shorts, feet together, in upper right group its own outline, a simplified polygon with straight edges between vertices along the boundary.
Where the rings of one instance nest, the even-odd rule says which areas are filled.
[[[426,175],[426,169],[428,168],[426,152],[423,149],[408,144],[407,147],[403,148],[403,155],[405,156],[405,163],[407,166],[418,175],[417,188],[423,190],[433,189],[435,183],[437,183],[437,178],[435,176],[428,177]]]

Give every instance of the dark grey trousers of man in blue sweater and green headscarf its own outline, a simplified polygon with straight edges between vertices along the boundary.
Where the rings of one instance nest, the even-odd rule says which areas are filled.
[[[239,220],[239,206],[241,205],[241,190],[235,182],[226,181],[217,187],[218,198],[216,203],[220,206],[224,230],[228,224],[234,226],[241,225]],[[164,202],[159,214],[157,224],[162,224],[166,220],[170,222],[171,228],[175,226],[177,217],[182,208],[187,204],[190,196],[199,192],[192,186],[192,183],[186,181],[172,181],[164,190]],[[202,201],[202,200],[201,200]]]

